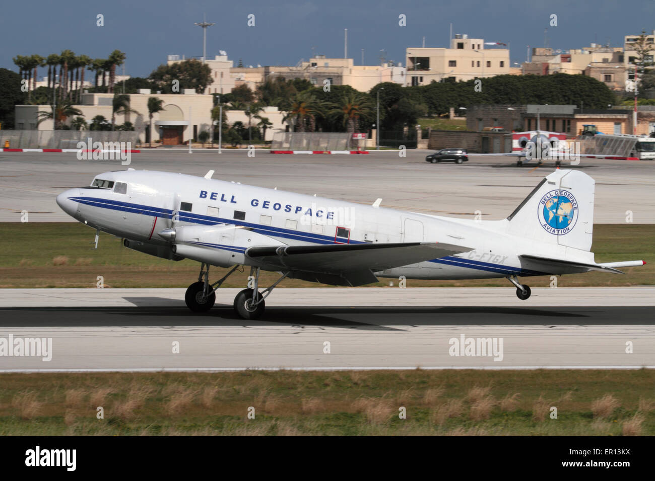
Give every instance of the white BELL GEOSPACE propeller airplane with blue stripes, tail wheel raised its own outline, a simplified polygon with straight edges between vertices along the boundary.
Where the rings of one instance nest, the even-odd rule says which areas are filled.
[[[556,169],[506,219],[453,219],[352,204],[282,190],[163,171],[110,171],[90,186],[59,194],[71,217],[123,239],[130,249],[170,260],[200,262],[185,293],[193,312],[214,306],[215,291],[240,266],[250,286],[234,311],[257,319],[265,298],[286,277],[359,286],[379,277],[489,279],[506,277],[519,299],[531,295],[517,276],[621,273],[643,260],[597,263],[589,251],[595,183]],[[210,266],[231,268],[210,281]],[[261,270],[280,277],[260,291]]]

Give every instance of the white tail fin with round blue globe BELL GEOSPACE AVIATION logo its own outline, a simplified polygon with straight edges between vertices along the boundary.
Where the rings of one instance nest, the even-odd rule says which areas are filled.
[[[557,169],[516,207],[508,233],[589,251],[595,183],[578,170]]]

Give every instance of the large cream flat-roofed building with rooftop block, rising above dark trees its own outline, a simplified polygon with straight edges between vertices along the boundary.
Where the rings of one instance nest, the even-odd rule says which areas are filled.
[[[483,39],[470,39],[464,34],[455,35],[450,48],[407,48],[405,56],[405,86],[510,73],[508,48],[485,48]]]

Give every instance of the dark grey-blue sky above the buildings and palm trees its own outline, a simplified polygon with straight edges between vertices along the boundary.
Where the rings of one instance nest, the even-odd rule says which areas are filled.
[[[533,4],[533,5],[531,5]],[[104,26],[97,26],[98,14]],[[207,56],[225,50],[236,65],[295,65],[312,52],[355,65],[377,65],[380,56],[405,65],[405,48],[447,47],[450,24],[485,42],[510,45],[512,62],[525,62],[527,46],[567,50],[590,43],[622,46],[624,35],[655,29],[655,0],[31,0],[4,2],[0,15],[0,67],[18,71],[16,55],[47,56],[69,48],[107,58],[126,54],[125,73],[147,77],[170,54],[202,56],[203,14]],[[399,26],[399,16],[406,26]],[[551,26],[552,15],[557,26]],[[248,16],[254,15],[254,26]],[[251,17],[252,18],[252,17]],[[313,47],[313,50],[312,50]],[[490,48],[490,47],[487,47]],[[492,47],[493,48],[493,47]],[[381,52],[384,50],[384,52]],[[47,69],[39,71],[39,77]],[[121,73],[121,70],[117,71]]]

